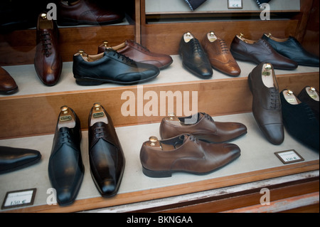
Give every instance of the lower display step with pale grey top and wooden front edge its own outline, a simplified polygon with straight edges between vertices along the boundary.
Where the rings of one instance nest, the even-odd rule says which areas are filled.
[[[206,112],[206,109],[201,110]],[[114,117],[114,116],[111,116]],[[319,151],[314,151],[292,138],[285,131],[284,142],[278,146],[270,144],[260,131],[251,112],[237,115],[215,117],[218,122],[241,122],[247,127],[247,134],[233,140],[241,149],[241,156],[222,169],[198,176],[175,173],[169,178],[156,179],[142,173],[139,152],[142,143],[150,136],[159,136],[159,123],[116,127],[122,144],[126,165],[121,186],[117,196],[102,198],[95,188],[90,175],[88,159],[87,131],[82,131],[82,159],[85,176],[77,200],[70,206],[48,205],[52,202],[52,190],[48,179],[48,159],[53,144],[53,134],[35,137],[1,139],[0,146],[36,149],[42,154],[41,162],[33,166],[0,175],[0,203],[3,204],[6,193],[36,188],[32,206],[1,209],[1,212],[74,212],[108,206],[131,204],[139,201],[190,194],[198,191],[217,189],[278,176],[287,176],[304,171],[319,169]],[[52,125],[55,127],[55,125]],[[288,150],[298,152],[304,161],[284,164],[274,152]],[[50,191],[51,190],[51,191]],[[48,204],[47,204],[48,203]]]

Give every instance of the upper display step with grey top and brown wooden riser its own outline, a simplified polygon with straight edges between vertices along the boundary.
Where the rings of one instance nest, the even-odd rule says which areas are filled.
[[[33,65],[6,66],[19,91],[14,95],[0,95],[3,107],[0,109],[0,139],[53,133],[63,105],[77,112],[83,129],[87,128],[88,114],[95,102],[107,107],[117,127],[159,122],[169,112],[179,114],[177,110],[186,116],[197,109],[216,116],[252,111],[247,75],[255,64],[238,61],[242,73],[237,78],[214,70],[212,79],[202,80],[182,67],[179,56],[172,58],[172,65],[161,70],[156,79],[129,86],[77,85],[72,62],[63,63],[61,78],[52,87],[41,83]],[[296,70],[275,70],[275,73],[279,90],[300,93],[305,86],[319,90],[319,68],[299,66]],[[154,106],[148,106],[150,103]]]

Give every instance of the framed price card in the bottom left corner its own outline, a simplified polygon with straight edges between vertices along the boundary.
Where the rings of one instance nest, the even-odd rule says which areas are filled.
[[[35,196],[36,189],[8,191],[4,197],[4,203],[2,204],[1,209],[33,205]]]

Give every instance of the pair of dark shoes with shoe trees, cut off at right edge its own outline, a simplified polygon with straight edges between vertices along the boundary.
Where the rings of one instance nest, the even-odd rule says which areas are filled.
[[[282,90],[283,124],[289,134],[319,152],[319,92],[306,87],[298,97],[291,90]]]

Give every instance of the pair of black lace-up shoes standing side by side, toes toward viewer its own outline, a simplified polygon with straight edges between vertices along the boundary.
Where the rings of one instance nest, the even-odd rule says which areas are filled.
[[[89,159],[92,179],[102,196],[117,194],[124,171],[124,154],[110,116],[95,103],[89,116]],[[72,204],[78,195],[85,167],[82,163],[80,120],[63,106],[53,138],[48,175],[60,205]]]

